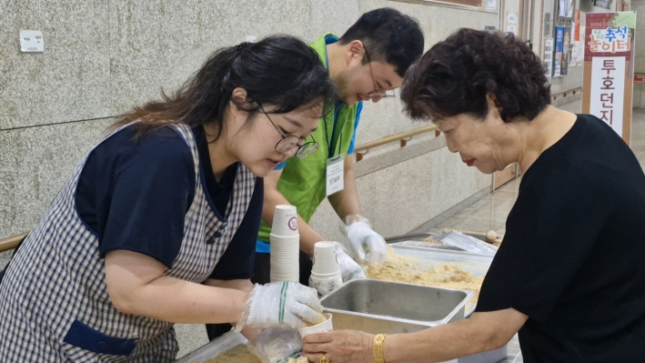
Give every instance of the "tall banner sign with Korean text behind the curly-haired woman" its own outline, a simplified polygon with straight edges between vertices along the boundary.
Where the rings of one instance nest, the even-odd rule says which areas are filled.
[[[589,13],[585,25],[582,113],[598,116],[629,145],[635,12]]]

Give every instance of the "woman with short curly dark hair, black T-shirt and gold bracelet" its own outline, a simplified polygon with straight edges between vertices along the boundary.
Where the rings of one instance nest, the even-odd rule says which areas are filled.
[[[461,29],[406,74],[409,116],[493,173],[519,163],[519,197],[471,318],[390,336],[307,336],[314,361],[442,362],[503,347],[525,362],[645,357],[645,175],[610,126],[549,106],[537,55],[512,35]]]

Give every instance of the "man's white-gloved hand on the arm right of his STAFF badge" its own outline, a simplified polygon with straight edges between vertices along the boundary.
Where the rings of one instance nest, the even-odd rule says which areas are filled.
[[[348,253],[361,266],[379,268],[388,257],[385,239],[369,226],[369,221],[361,216],[349,216],[346,236],[349,239]]]

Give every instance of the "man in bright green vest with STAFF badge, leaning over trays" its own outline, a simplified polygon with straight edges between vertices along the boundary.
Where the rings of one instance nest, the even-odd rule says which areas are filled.
[[[300,283],[308,284],[314,244],[325,240],[308,223],[325,197],[347,226],[348,243],[339,249],[338,256],[343,279],[362,275],[358,264],[378,267],[385,261],[385,240],[362,217],[358,203],[356,127],[364,101],[376,103],[395,96],[393,91],[401,85],[408,66],[423,53],[423,42],[417,20],[392,8],[381,8],[362,15],[340,38],[326,34],[310,45],[328,67],[341,102],[320,120],[317,131],[300,143],[296,157],[273,160],[275,169],[264,180],[254,281],[269,280],[269,226],[275,207],[293,205],[300,233]],[[281,133],[286,137],[288,131]]]

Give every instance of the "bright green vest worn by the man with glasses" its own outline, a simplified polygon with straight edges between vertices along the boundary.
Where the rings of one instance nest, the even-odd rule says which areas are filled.
[[[325,38],[336,36],[326,34],[310,44],[320,56],[323,65],[327,64],[327,46]],[[277,190],[287,198],[292,206],[297,207],[297,214],[309,223],[316,208],[327,197],[326,176],[328,157],[347,154],[352,136],[358,103],[348,106],[341,104],[327,116],[320,119],[316,132],[312,134],[318,143],[318,149],[305,158],[297,156],[287,159],[287,166],[277,182]],[[336,116],[334,116],[336,114]],[[336,121],[336,122],[335,122]],[[311,136],[307,142],[312,141]],[[271,227],[262,221],[257,239],[268,242]]]

